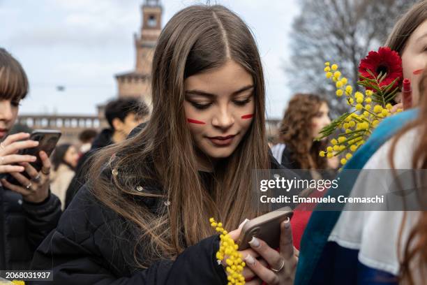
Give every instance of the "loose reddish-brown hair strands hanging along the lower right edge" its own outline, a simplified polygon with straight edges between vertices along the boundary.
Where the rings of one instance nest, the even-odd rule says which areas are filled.
[[[426,66],[427,67],[427,66]],[[422,79],[419,83],[419,94],[421,95],[421,102],[419,105],[419,115],[417,119],[414,119],[412,122],[405,125],[397,134],[394,140],[391,143],[391,149],[389,152],[389,161],[392,169],[396,169],[394,164],[394,152],[396,151],[396,145],[398,140],[405,134],[407,131],[410,131],[414,128],[417,129],[417,136],[419,136],[419,143],[414,149],[414,154],[412,156],[412,168],[413,169],[426,169],[427,168],[427,69],[424,69]],[[417,181],[415,180],[414,183]],[[422,193],[425,191],[423,187],[415,187],[418,193],[418,196],[423,199],[420,201],[420,204],[425,206],[427,205],[426,195],[427,193]],[[403,223],[405,223],[404,215]],[[400,236],[403,231],[403,225],[400,227]],[[400,240],[400,239],[399,239]],[[427,265],[427,212],[421,212],[417,224],[412,228],[409,238],[405,244],[403,260],[400,263],[400,279],[404,280],[408,284],[414,284],[414,279],[411,272],[410,263],[417,259],[419,263],[419,269],[425,270]]]

